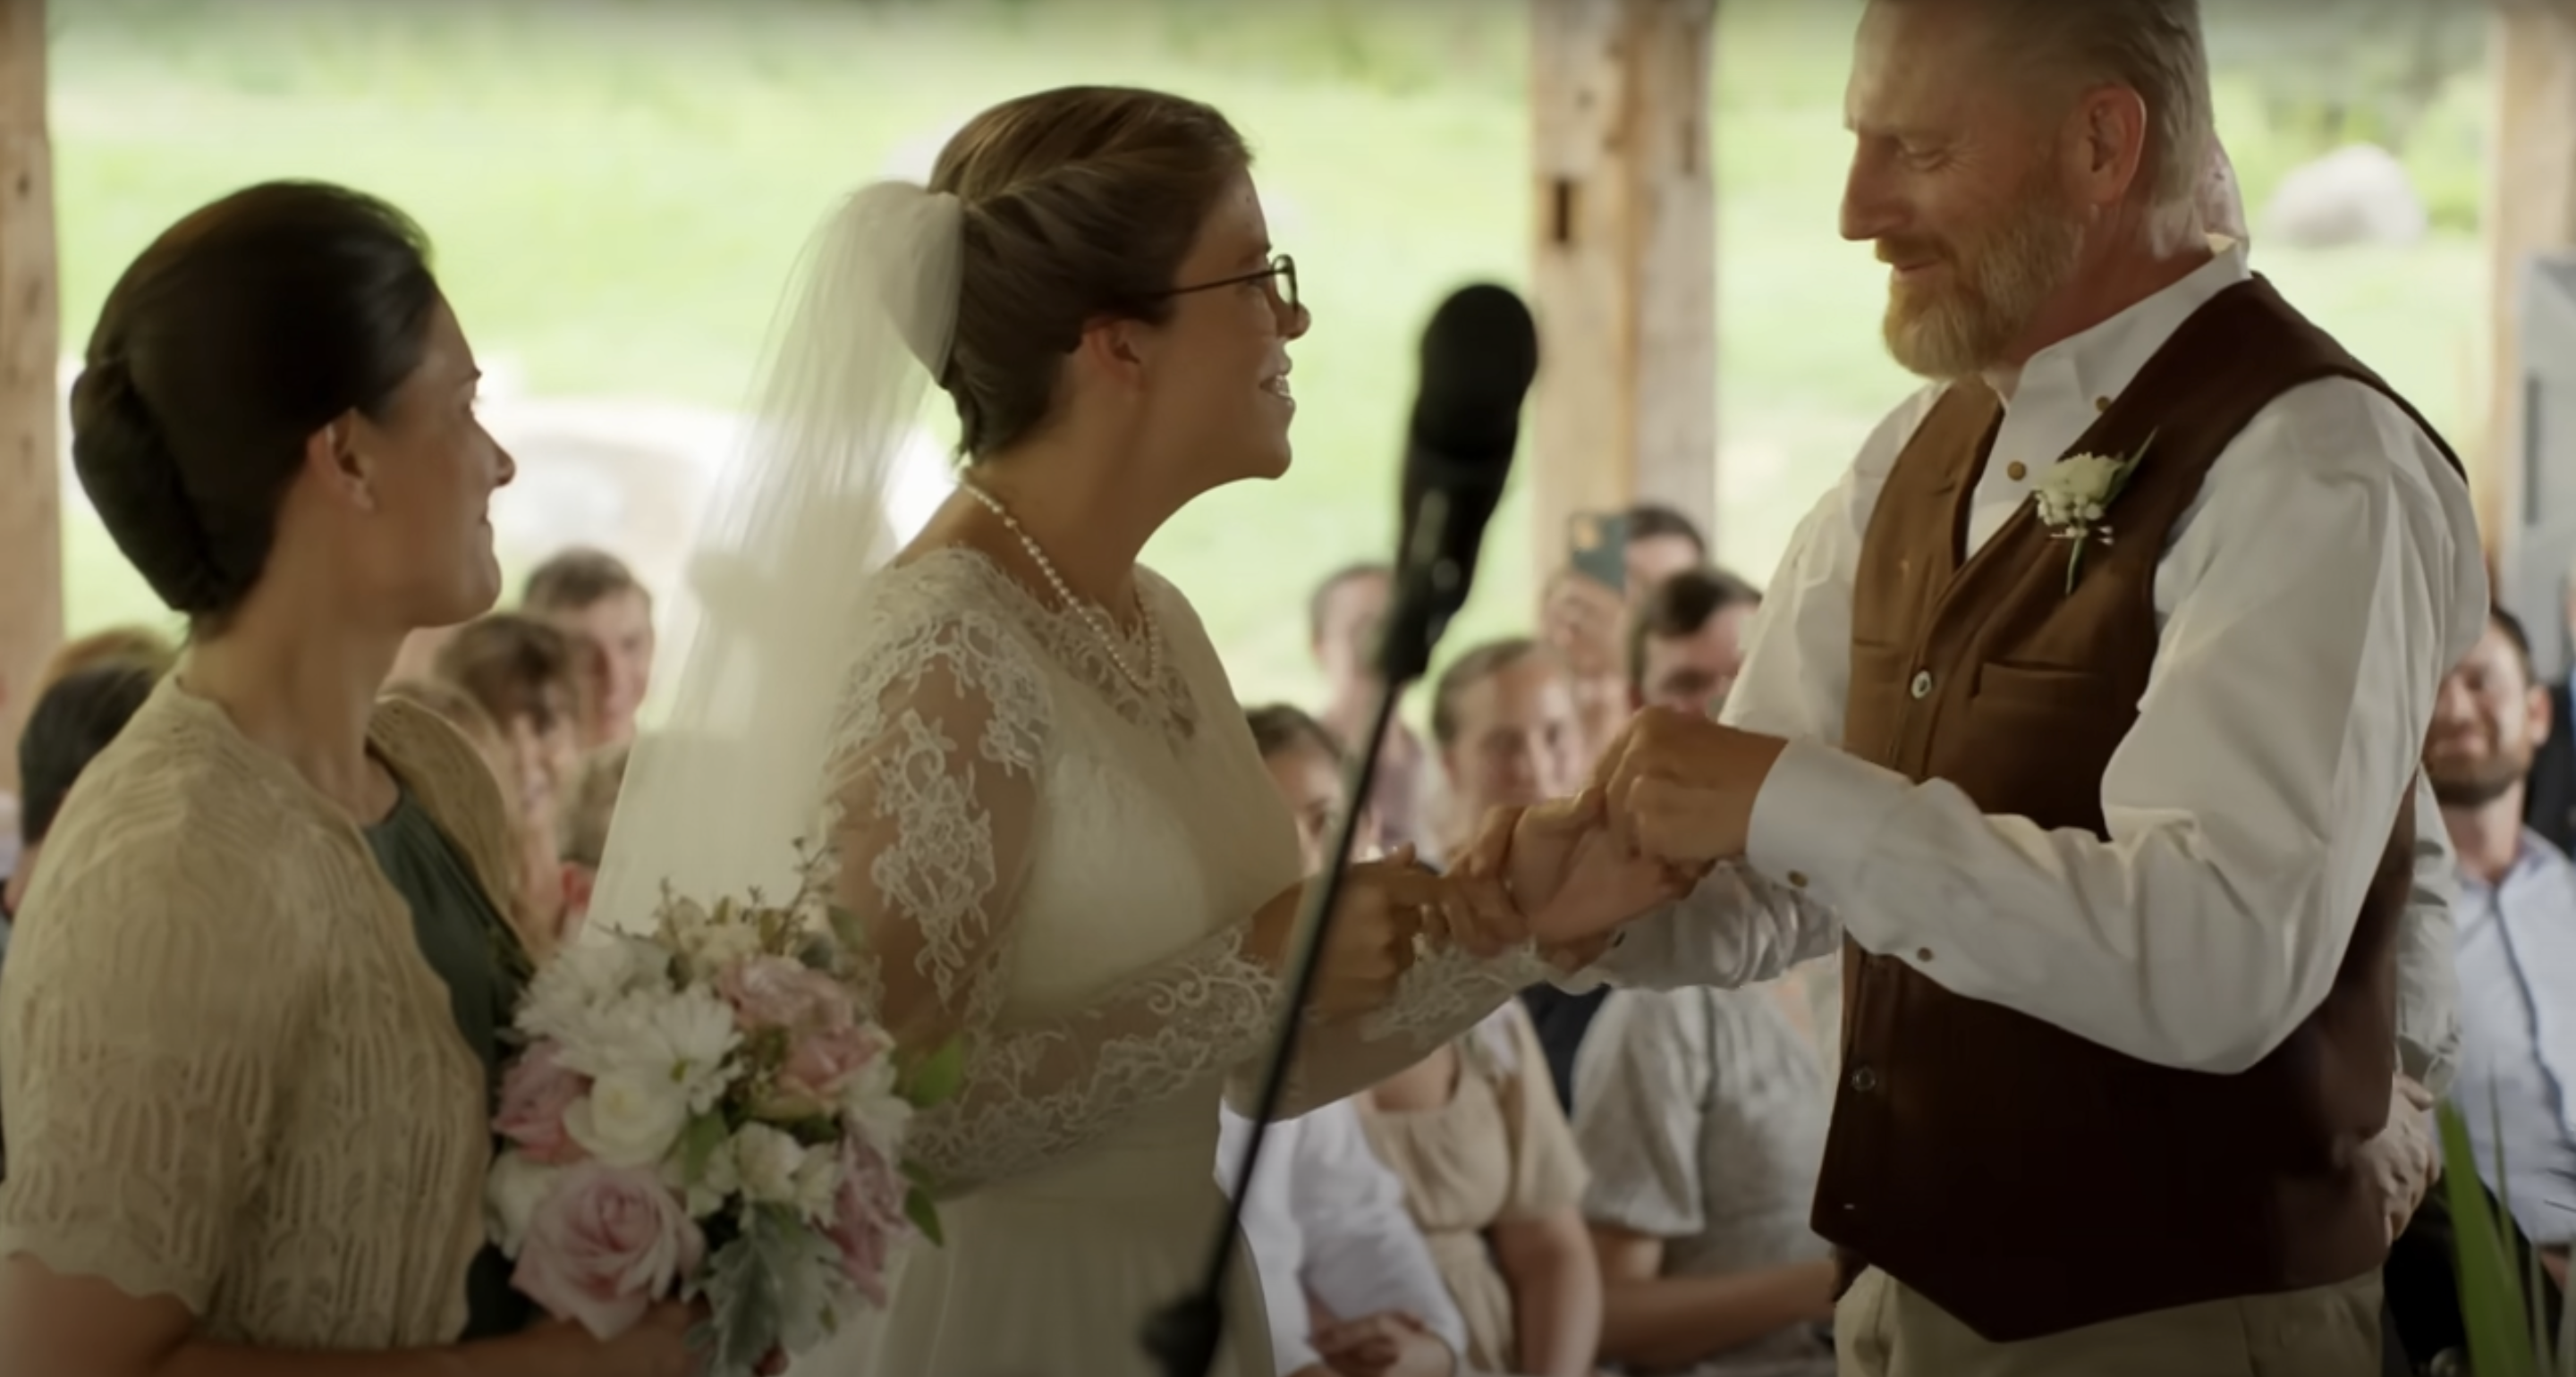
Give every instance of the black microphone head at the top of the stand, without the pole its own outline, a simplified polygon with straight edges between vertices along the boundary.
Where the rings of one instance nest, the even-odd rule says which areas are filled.
[[[1466,605],[1484,522],[1502,502],[1520,443],[1520,404],[1538,376],[1530,309],[1499,286],[1450,293],[1422,332],[1422,391],[1404,438],[1404,533],[1378,674],[1430,672],[1432,646]]]

